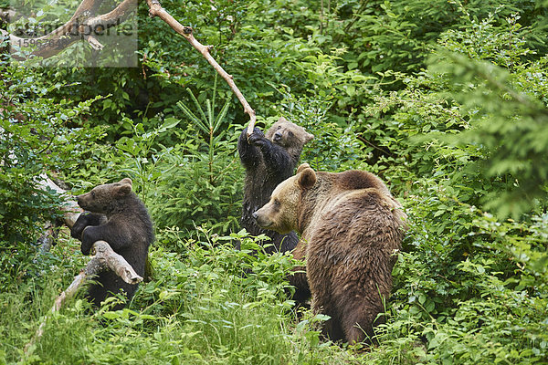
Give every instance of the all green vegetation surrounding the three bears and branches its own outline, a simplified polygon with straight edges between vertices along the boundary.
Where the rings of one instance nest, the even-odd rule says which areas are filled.
[[[296,121],[316,136],[302,161],[377,173],[405,205],[387,323],[366,353],[295,318],[289,257],[232,249],[247,118],[145,6],[139,68],[2,56],[0,363],[548,362],[546,5],[163,2],[215,46],[261,127]],[[155,280],[120,312],[74,301],[23,356],[85,262],[66,232],[51,252],[36,244],[59,202],[36,189],[41,172],[72,193],[130,176],[156,225]]]

